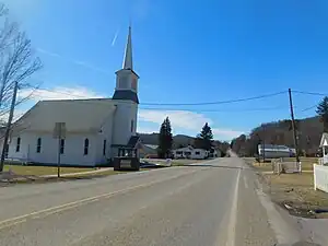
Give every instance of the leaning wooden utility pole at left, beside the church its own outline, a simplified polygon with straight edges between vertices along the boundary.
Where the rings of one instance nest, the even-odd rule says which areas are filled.
[[[5,159],[5,153],[8,152],[8,140],[9,140],[9,134],[11,130],[11,122],[16,105],[16,95],[17,95],[17,90],[19,90],[19,82],[14,82],[14,87],[13,87],[13,95],[12,95],[12,101],[11,101],[11,106],[10,106],[10,113],[9,113],[9,118],[8,118],[8,124],[5,128],[5,133],[4,133],[4,140],[3,140],[3,147],[2,147],[2,153],[1,153],[1,161],[0,161],[0,173],[3,171],[4,166],[4,159]]]

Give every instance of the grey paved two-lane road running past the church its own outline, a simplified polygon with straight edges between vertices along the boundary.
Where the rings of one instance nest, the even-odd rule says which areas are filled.
[[[0,245],[214,246],[279,239],[239,159],[0,188]],[[273,226],[274,229],[274,226]]]

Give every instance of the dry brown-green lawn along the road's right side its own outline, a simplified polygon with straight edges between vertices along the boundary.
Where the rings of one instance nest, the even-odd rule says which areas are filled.
[[[294,161],[289,159],[286,161]],[[328,209],[328,194],[314,190],[313,164],[317,159],[301,157],[302,174],[273,174],[271,163],[246,161],[258,171],[267,192],[278,204],[289,208],[294,215],[305,218],[325,218],[327,213],[316,213]]]

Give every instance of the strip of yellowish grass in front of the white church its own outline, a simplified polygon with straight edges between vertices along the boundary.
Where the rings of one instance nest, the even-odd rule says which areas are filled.
[[[44,176],[56,175],[57,167],[52,166],[19,166],[19,165],[4,165],[4,172],[11,169],[17,175]],[[78,167],[60,167],[60,174],[82,173],[94,171],[95,168],[78,168]]]

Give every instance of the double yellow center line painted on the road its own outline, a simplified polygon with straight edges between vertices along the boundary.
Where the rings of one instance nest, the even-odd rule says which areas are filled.
[[[27,221],[27,219],[38,219],[40,216],[45,218],[45,216],[48,216],[48,215],[54,214],[54,213],[62,212],[62,211],[73,209],[73,208],[77,208],[77,207],[80,207],[80,206],[83,206],[83,204],[86,204],[86,203],[98,201],[102,198],[105,198],[105,199],[106,198],[112,198],[112,197],[114,197],[116,195],[119,195],[119,194],[129,192],[129,191],[132,191],[132,190],[136,190],[136,189],[139,189],[139,188],[150,187],[150,186],[153,186],[155,184],[164,183],[164,181],[167,181],[167,180],[172,180],[172,179],[175,179],[175,178],[178,178],[178,177],[181,177],[181,176],[186,176],[186,175],[196,173],[198,171],[203,171],[203,169],[197,169],[197,171],[184,173],[184,174],[171,177],[171,178],[150,181],[148,184],[132,186],[132,187],[129,187],[129,188],[126,188],[126,189],[120,189],[120,190],[116,190],[116,191],[112,191],[112,192],[107,192],[107,194],[102,194],[102,195],[98,195],[98,196],[84,198],[84,199],[68,202],[68,203],[65,203],[65,204],[61,204],[61,206],[50,207],[50,208],[47,208],[47,209],[34,211],[32,213],[26,213],[26,214],[23,214],[23,215],[20,215],[20,216],[3,220],[3,221],[0,221],[0,230],[5,229],[5,227],[10,227],[10,226],[13,226],[13,225],[16,225],[16,224],[20,224],[20,223],[24,223],[24,222]]]

